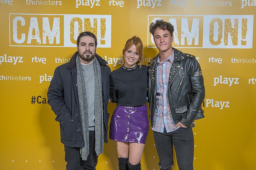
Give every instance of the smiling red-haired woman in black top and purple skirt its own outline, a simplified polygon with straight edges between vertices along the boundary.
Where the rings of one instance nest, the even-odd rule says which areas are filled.
[[[140,170],[148,135],[148,69],[139,37],[128,39],[122,66],[110,74],[110,99],[117,103],[109,138],[116,141],[119,170]]]

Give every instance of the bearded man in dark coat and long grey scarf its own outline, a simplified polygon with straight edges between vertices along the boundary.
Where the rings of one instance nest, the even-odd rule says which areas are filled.
[[[107,61],[96,54],[91,32],[77,37],[77,52],[58,66],[48,89],[48,103],[60,122],[67,170],[95,169],[108,142],[109,74]]]

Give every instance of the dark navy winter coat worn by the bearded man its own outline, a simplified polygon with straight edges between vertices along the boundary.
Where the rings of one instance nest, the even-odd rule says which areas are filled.
[[[68,63],[58,66],[53,74],[47,97],[48,104],[55,113],[55,120],[60,122],[60,141],[69,147],[84,147],[82,124],[80,120],[76,56]],[[108,99],[109,99],[109,74],[111,70],[107,61],[95,54],[100,63],[102,92],[103,92],[103,119],[104,142],[108,143]]]

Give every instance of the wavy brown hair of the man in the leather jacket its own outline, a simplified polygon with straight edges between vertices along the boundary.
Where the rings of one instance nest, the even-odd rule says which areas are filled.
[[[149,32],[153,35],[156,31],[156,28],[161,28],[163,30],[168,30],[172,35],[174,28],[173,25],[169,22],[165,22],[163,19],[157,19],[156,22],[152,22],[149,27]]]

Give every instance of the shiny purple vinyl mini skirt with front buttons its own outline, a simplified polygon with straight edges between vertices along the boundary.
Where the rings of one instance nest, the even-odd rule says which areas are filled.
[[[148,136],[148,106],[116,106],[110,127],[109,138],[115,141],[146,143]]]

